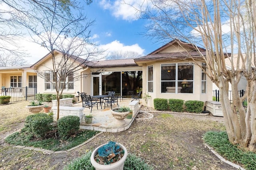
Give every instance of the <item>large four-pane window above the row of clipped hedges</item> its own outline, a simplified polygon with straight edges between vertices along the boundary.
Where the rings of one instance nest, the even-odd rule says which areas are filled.
[[[193,64],[161,65],[162,93],[193,93]]]

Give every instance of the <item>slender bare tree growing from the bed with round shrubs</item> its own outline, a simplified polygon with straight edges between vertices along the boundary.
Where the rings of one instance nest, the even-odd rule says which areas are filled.
[[[70,11],[60,13],[61,5],[58,1],[54,1],[54,4],[44,4],[43,8],[49,8],[48,11],[40,6],[34,6],[33,12],[37,17],[29,24],[21,22],[29,29],[34,42],[48,49],[51,55],[52,66],[42,65],[46,71],[37,70],[37,76],[50,82],[56,90],[57,120],[63,90],[72,87],[74,81],[87,76],[78,73],[91,65],[92,60],[101,54],[90,41],[89,27],[94,20],[88,20],[82,13],[72,14]],[[56,51],[61,57],[56,55]]]

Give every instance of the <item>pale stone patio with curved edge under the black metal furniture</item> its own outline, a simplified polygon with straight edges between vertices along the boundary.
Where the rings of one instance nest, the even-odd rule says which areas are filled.
[[[119,106],[128,106],[131,103],[132,99],[123,99],[118,101]],[[138,100],[135,100],[138,101]],[[82,107],[82,102],[74,104],[74,107]],[[138,107],[140,107],[139,105]],[[112,108],[116,108],[117,105],[112,105]],[[104,105],[102,106],[102,109],[100,105],[98,105],[98,109],[96,106],[92,107],[92,113],[90,113],[91,109],[88,109],[88,107],[84,108],[84,114],[92,114],[93,119],[91,124],[86,124],[84,122],[84,118],[82,119],[82,123],[80,124],[81,129],[87,129],[87,130],[94,130],[94,131],[103,131],[103,132],[121,132],[128,129],[132,122],[134,121],[136,114],[134,113],[131,119],[124,119],[125,125],[117,125],[117,120],[112,116],[111,114],[111,108],[110,105],[106,106],[104,109]]]

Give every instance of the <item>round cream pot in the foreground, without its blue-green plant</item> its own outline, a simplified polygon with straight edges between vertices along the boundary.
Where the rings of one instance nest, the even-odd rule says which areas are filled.
[[[98,164],[95,160],[94,160],[94,156],[98,153],[98,149],[104,145],[107,145],[107,143],[100,145],[98,148],[96,148],[91,155],[90,161],[92,163],[92,166],[94,166],[94,168],[96,170],[123,170],[124,169],[124,161],[127,158],[127,150],[124,147],[124,145],[120,144],[120,143],[116,143],[116,145],[119,145],[123,150],[124,150],[124,156],[116,163],[114,164],[109,164],[109,165],[102,165],[102,164]]]

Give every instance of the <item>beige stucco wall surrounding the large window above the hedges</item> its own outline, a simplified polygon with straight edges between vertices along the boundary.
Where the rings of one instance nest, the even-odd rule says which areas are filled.
[[[191,94],[173,94],[173,93],[161,93],[161,64],[169,64],[169,63],[176,63],[171,61],[156,61],[152,63],[143,64],[143,92],[144,95],[147,90],[145,87],[147,87],[147,67],[153,66],[153,92],[149,92],[148,94],[151,96],[150,100],[148,101],[148,106],[154,107],[154,98],[165,98],[165,99],[181,99],[181,100],[200,100],[203,102],[206,102],[208,100],[211,100],[212,96],[212,82],[207,77],[206,79],[206,94],[201,93],[201,74],[202,70],[199,66],[194,64],[194,90]],[[179,63],[188,63],[188,61],[183,62],[180,61]],[[146,103],[143,100],[143,105],[146,105]]]

